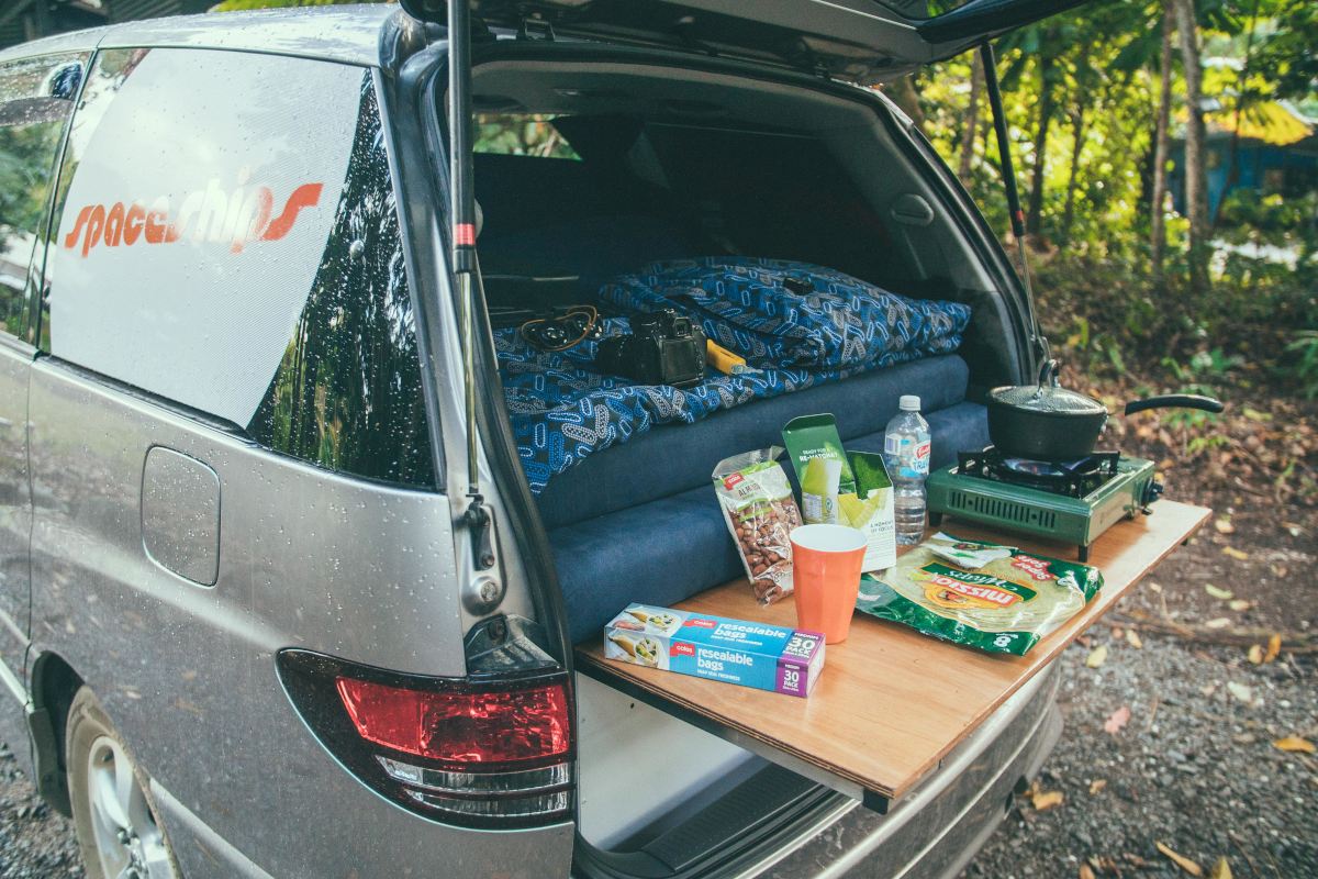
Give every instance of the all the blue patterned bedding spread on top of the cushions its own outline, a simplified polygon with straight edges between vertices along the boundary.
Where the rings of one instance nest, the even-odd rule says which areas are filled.
[[[635,385],[594,372],[598,341],[548,353],[515,328],[497,331],[513,434],[536,494],[552,476],[656,424],[689,424],[754,399],[950,353],[970,322],[961,303],[907,299],[833,269],[746,257],[651,264],[598,295],[626,311],[676,308],[762,372],[710,370],[685,389]],[[630,332],[626,318],[602,324],[605,336]]]

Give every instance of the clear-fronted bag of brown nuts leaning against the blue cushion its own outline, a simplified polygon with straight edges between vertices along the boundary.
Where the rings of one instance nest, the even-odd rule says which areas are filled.
[[[783,449],[770,448],[734,455],[714,468],[714,490],[746,577],[760,604],[772,604],[792,593],[792,542],[788,535],[801,523],[787,473],[778,464]]]

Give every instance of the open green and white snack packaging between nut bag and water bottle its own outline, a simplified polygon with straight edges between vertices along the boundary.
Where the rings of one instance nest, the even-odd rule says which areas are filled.
[[[865,532],[862,571],[891,568],[898,557],[892,480],[882,455],[842,448],[829,414],[803,415],[783,427],[783,441],[801,485],[807,525],[846,525]]]

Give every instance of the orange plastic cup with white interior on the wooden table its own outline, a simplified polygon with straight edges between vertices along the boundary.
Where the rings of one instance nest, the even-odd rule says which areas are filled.
[[[824,633],[828,644],[846,640],[861,592],[865,535],[845,525],[803,525],[791,539],[797,626]]]

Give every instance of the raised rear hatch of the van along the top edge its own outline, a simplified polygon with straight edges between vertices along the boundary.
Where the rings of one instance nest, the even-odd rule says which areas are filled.
[[[1086,0],[474,0],[490,28],[546,30],[871,84]],[[403,0],[443,18],[436,0]],[[434,9],[434,11],[432,11]]]

